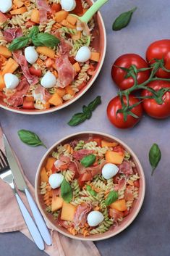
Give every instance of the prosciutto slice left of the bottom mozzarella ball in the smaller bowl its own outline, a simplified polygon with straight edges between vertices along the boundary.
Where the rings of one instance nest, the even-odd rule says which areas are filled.
[[[75,226],[85,226],[90,210],[92,210],[92,206],[89,203],[83,202],[81,205],[78,205],[74,216]]]

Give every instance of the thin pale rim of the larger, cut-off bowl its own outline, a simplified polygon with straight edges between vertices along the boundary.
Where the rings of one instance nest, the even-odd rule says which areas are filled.
[[[90,1],[93,3],[93,0],[90,0]],[[75,96],[73,99],[69,100],[67,103],[62,104],[59,107],[52,107],[49,110],[39,110],[39,111],[38,110],[25,111],[25,110],[22,110],[22,109],[21,110],[17,110],[17,109],[13,109],[13,108],[4,106],[3,104],[0,104],[0,107],[3,108],[4,110],[8,110],[10,112],[15,112],[17,114],[22,114],[22,115],[43,115],[43,114],[48,114],[48,113],[51,113],[51,112],[55,112],[55,111],[64,109],[64,107],[68,107],[70,104],[76,102],[77,99],[80,99],[80,97],[83,94],[85,94],[86,91],[88,91],[88,89],[91,86],[93,86],[93,83],[95,82],[96,78],[98,77],[99,73],[101,72],[101,68],[103,67],[103,62],[104,62],[104,59],[106,57],[106,42],[107,42],[107,39],[106,39],[106,28],[105,28],[105,25],[104,25],[104,22],[103,22],[103,17],[101,16],[101,12],[97,12],[97,14],[98,14],[99,20],[101,21],[101,28],[103,30],[103,56],[101,58],[101,62],[99,64],[99,66],[98,66],[98,70],[95,73],[93,79],[90,80],[90,83],[88,84],[88,86],[86,86],[85,89],[82,89],[82,92],[80,92],[80,94],[78,96]]]

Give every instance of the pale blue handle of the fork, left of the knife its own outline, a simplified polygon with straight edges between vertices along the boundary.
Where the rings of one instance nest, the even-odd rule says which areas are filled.
[[[39,249],[43,250],[44,249],[43,239],[41,237],[40,232],[38,231],[37,226],[35,225],[35,223],[33,221],[33,218],[30,216],[30,213],[28,212],[27,208],[25,207],[24,203],[22,202],[22,199],[20,199],[20,197],[17,193],[15,193],[15,197],[17,199],[18,205],[22,212],[22,216],[25,220],[27,228],[30,231],[30,234],[33,237],[33,240],[35,241],[35,244],[38,246]]]

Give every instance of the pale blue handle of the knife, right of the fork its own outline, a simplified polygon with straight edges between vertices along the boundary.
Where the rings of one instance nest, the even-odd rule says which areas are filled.
[[[43,237],[43,240],[46,242],[46,244],[51,245],[51,236],[49,234],[46,223],[43,220],[43,217],[42,217],[40,211],[38,210],[38,207],[35,204],[35,202],[33,200],[33,197],[31,196],[28,189],[25,189],[25,194],[26,194],[26,197],[27,197],[27,201],[30,205],[30,209],[33,212],[33,217],[35,219],[35,223],[38,226],[38,229],[41,233],[41,236]]]

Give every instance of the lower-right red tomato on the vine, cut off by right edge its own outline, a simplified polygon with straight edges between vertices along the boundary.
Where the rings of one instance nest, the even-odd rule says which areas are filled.
[[[170,88],[170,83],[163,80],[156,80],[148,83],[148,87],[159,91],[161,88]],[[142,96],[152,96],[148,90],[142,91]],[[163,103],[158,104],[155,99],[144,99],[143,109],[150,117],[162,119],[170,116],[170,91],[167,91],[163,96]]]

